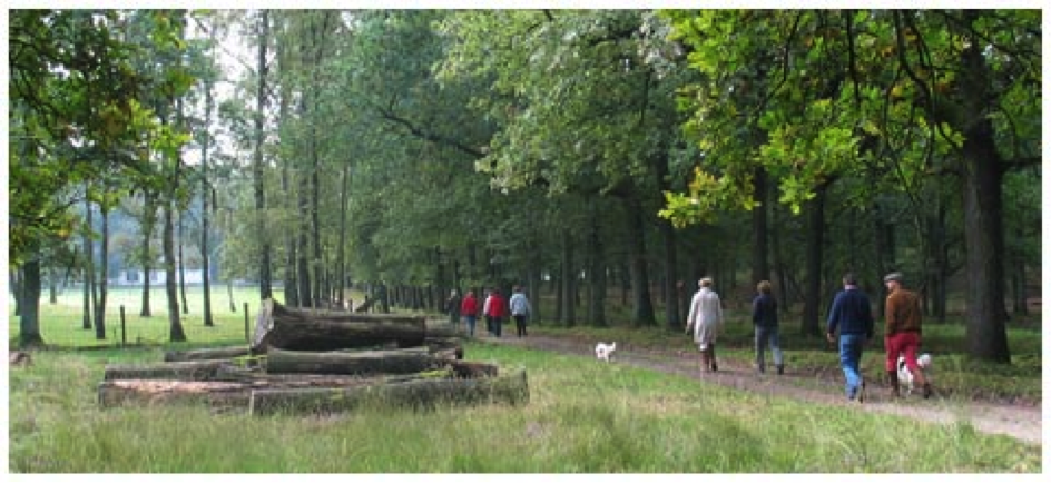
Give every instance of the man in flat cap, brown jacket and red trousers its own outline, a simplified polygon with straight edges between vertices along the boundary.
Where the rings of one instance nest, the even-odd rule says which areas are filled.
[[[894,397],[901,397],[902,390],[897,384],[897,358],[905,356],[905,367],[913,379],[923,387],[923,398],[931,397],[931,383],[924,377],[923,369],[916,364],[916,352],[920,351],[922,334],[923,310],[920,308],[920,296],[903,286],[904,277],[894,272],[883,277],[890,295],[887,295],[886,333],[883,342],[886,347],[887,381]]]

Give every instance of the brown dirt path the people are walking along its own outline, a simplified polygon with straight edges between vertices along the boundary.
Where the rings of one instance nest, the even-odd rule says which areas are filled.
[[[487,342],[551,351],[562,354],[593,356],[595,346],[583,341],[550,336],[530,335],[528,337],[483,337]],[[630,364],[666,373],[681,374],[699,381],[719,384],[741,391],[782,395],[800,401],[823,404],[853,404],[865,411],[882,412],[912,417],[922,422],[952,424],[967,421],[975,430],[990,434],[1004,434],[1027,443],[1042,444],[1042,417],[1039,405],[1014,405],[993,402],[949,401],[936,396],[930,401],[914,394],[904,401],[892,401],[885,387],[868,391],[864,404],[851,403],[842,394],[842,374],[794,374],[788,367],[785,375],[757,375],[750,365],[723,359],[719,371],[701,374],[698,369],[696,353],[672,351],[635,349],[618,347],[613,359],[619,364]],[[809,381],[807,381],[809,379]],[[817,381],[819,379],[819,381]],[[821,384],[815,384],[821,382]],[[819,386],[808,387],[808,386]]]

